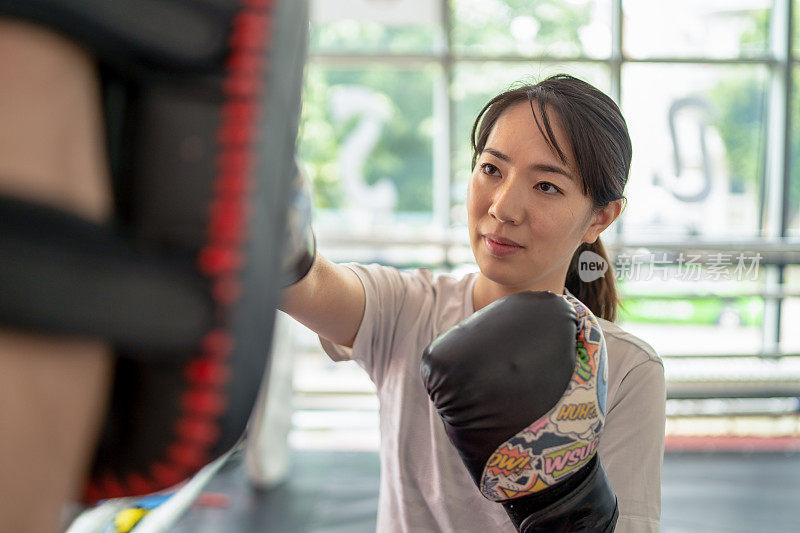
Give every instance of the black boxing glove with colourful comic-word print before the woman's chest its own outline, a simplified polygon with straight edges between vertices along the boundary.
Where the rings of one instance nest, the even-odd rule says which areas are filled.
[[[421,372],[475,484],[519,531],[613,531],[617,499],[596,455],[606,347],[583,303],[501,298],[434,340]]]

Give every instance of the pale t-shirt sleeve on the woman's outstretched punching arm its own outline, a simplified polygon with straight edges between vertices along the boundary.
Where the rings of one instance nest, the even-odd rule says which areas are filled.
[[[420,318],[421,310],[429,308],[425,300],[431,296],[432,289],[425,280],[430,280],[420,275],[421,272],[378,264],[347,263],[343,266],[355,272],[364,286],[364,316],[352,349],[323,337],[320,343],[334,361],[356,361],[380,387],[398,331],[411,327],[411,323]]]

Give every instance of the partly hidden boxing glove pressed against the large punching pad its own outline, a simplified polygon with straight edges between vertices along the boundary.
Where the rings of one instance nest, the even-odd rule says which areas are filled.
[[[311,227],[311,191],[297,165],[286,215],[286,253],[281,261],[282,286],[303,279],[314,264],[317,241]]]

